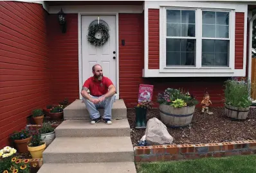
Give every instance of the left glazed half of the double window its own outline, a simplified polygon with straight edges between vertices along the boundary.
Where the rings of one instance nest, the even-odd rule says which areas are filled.
[[[167,10],[166,64],[195,65],[196,11]]]

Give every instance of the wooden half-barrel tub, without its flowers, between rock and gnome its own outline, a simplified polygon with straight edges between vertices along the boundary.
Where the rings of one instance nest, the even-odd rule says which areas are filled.
[[[170,105],[160,104],[160,117],[163,124],[170,128],[182,128],[188,126],[194,114],[196,106],[174,108]]]

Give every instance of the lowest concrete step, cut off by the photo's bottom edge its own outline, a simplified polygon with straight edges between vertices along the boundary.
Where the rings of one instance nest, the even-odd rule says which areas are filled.
[[[133,162],[114,163],[44,163],[37,173],[136,173]]]

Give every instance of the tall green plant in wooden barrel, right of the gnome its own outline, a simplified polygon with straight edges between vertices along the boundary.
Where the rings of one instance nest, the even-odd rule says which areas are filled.
[[[250,110],[250,82],[228,79],[224,83],[225,114],[232,119],[246,119]]]

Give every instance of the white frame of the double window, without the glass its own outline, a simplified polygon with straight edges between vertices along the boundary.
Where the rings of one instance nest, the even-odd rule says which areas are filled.
[[[167,35],[167,10],[195,10],[196,11],[196,61],[195,66],[167,66],[166,65],[166,35]],[[202,67],[202,29],[203,29],[203,11],[229,12],[229,40],[230,56],[228,57],[228,67]],[[178,37],[177,37],[178,38]],[[180,37],[187,38],[187,37]],[[193,37],[194,38],[194,37]],[[210,38],[222,40],[223,38]],[[226,40],[224,38],[223,40]],[[235,67],[235,11],[216,8],[178,8],[161,7],[160,8],[160,70],[167,73],[233,73]]]

